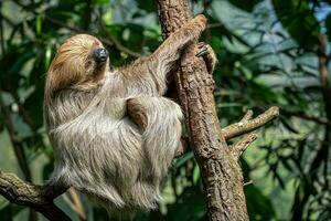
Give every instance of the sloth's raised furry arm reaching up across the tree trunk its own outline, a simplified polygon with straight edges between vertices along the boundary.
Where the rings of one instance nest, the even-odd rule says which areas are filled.
[[[206,19],[200,14],[172,33],[147,57],[135,61],[120,70],[129,91],[162,95],[167,90],[167,74],[177,67],[183,49],[196,40],[205,29]]]

